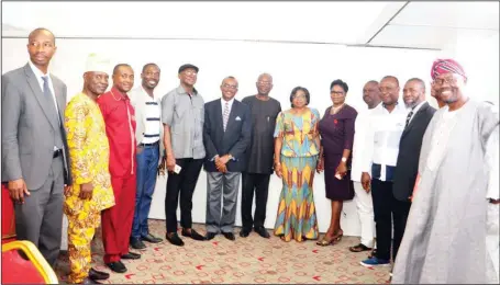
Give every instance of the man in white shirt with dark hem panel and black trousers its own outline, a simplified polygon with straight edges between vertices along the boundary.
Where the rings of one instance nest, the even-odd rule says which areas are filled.
[[[365,190],[371,187],[377,236],[375,256],[362,261],[364,266],[389,265],[392,237],[392,179],[399,153],[399,141],[404,129],[408,111],[398,104],[399,81],[387,76],[380,81],[382,107],[376,109],[366,134],[366,157],[362,163],[362,183]],[[395,253],[393,253],[395,255]]]

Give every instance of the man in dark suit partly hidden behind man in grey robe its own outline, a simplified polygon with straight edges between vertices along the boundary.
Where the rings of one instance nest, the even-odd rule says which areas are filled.
[[[419,78],[412,78],[407,81],[403,89],[403,101],[410,113],[399,142],[399,155],[392,186],[395,196],[392,214],[395,223],[395,260],[404,233],[408,214],[410,213],[410,198],[419,170],[422,138],[432,116],[436,112],[425,101],[425,83]]]

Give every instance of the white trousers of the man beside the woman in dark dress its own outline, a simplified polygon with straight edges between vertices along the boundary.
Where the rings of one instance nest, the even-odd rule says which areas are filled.
[[[362,243],[368,248],[374,247],[375,221],[374,221],[374,203],[371,192],[366,193],[360,182],[353,181],[356,196],[357,214],[362,226]]]

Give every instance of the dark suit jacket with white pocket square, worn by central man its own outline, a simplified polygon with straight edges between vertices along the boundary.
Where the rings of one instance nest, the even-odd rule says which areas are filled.
[[[203,144],[207,150],[204,170],[218,172],[213,158],[231,153],[234,160],[227,162],[227,171],[242,172],[246,168],[246,151],[252,142],[251,111],[246,104],[234,100],[224,132],[221,100],[204,104]]]

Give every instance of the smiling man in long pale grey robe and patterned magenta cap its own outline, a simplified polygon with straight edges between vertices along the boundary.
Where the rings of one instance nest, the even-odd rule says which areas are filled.
[[[498,284],[498,106],[468,98],[453,59],[434,61],[431,76],[446,106],[423,137],[392,282]]]

